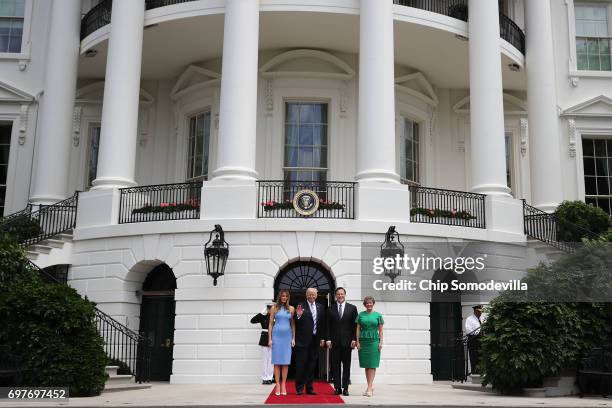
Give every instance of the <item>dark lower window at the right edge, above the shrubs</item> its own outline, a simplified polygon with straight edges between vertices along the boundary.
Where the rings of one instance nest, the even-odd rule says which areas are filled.
[[[585,201],[612,214],[612,139],[582,139]]]

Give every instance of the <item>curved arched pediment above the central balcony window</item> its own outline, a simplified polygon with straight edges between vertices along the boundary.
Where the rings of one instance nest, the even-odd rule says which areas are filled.
[[[319,50],[300,49],[284,52],[261,66],[264,78],[310,77],[348,80],[355,71],[340,58]]]

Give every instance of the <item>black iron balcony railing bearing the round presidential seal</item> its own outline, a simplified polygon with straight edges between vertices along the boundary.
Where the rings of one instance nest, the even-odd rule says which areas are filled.
[[[259,218],[355,218],[354,182],[262,180],[257,185]],[[314,191],[319,198],[318,210],[311,215],[293,207],[295,195],[302,190]]]

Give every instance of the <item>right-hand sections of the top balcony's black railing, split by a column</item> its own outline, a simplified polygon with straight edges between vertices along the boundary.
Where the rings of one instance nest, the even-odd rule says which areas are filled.
[[[400,6],[414,7],[468,21],[468,0],[393,0],[393,2]],[[499,35],[523,54],[525,53],[525,33],[503,13],[499,15]]]

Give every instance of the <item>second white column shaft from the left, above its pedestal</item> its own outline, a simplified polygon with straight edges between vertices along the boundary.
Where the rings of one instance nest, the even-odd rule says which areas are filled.
[[[135,186],[144,0],[113,0],[94,189]]]

